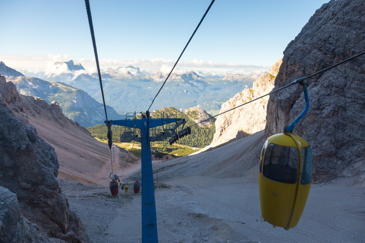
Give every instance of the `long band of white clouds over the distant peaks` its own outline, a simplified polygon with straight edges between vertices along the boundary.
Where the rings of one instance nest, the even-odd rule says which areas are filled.
[[[48,73],[66,73],[69,72],[64,67],[55,71],[54,62],[57,61],[68,61],[73,60],[75,63],[81,63],[85,67],[85,70],[77,71],[77,74],[87,73],[91,74],[96,72],[95,59],[87,58],[72,58],[68,55],[46,55],[46,56],[10,56],[1,55],[0,60],[5,62],[9,67],[16,70],[28,70],[31,72],[44,71]],[[161,71],[164,74],[169,73],[176,60],[169,60],[163,58],[151,58],[151,59],[133,59],[133,60],[116,60],[116,59],[100,59],[101,70],[107,70],[107,68],[117,69],[118,67],[126,67],[132,65],[134,67],[139,67],[141,71],[146,71],[149,73],[155,73]],[[202,71],[203,73],[211,73],[213,75],[224,75],[227,72],[233,74],[246,74],[246,75],[260,75],[265,71],[269,71],[270,67],[265,66],[254,66],[245,65],[238,63],[218,63],[212,62],[211,60],[185,60],[180,61],[175,67],[174,73],[181,74],[186,71]],[[132,68],[122,68],[120,72],[130,71],[135,74],[135,70]]]

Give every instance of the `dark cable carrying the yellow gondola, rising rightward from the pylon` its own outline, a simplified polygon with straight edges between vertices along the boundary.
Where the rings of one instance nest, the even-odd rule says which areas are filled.
[[[308,78],[311,78],[311,77],[313,77],[313,76],[315,76],[315,75],[317,75],[317,74],[320,74],[320,73],[322,73],[322,72],[325,72],[325,71],[327,71],[327,70],[329,70],[329,69],[331,69],[331,68],[334,68],[334,67],[336,67],[336,66],[338,66],[338,65],[341,65],[341,64],[343,64],[343,63],[346,63],[346,62],[348,62],[348,61],[350,61],[350,60],[352,60],[352,59],[354,59],[354,58],[357,58],[358,56],[364,55],[364,54],[365,54],[365,51],[363,51],[363,52],[361,52],[361,53],[359,53],[359,54],[357,54],[357,55],[351,56],[350,58],[347,58],[347,59],[345,59],[345,60],[343,60],[343,61],[341,61],[341,62],[339,62],[339,63],[333,64],[332,66],[326,67],[326,68],[324,68],[324,69],[322,69],[322,70],[320,70],[320,71],[318,71],[318,72],[315,72],[314,74],[311,74],[311,75],[309,75],[309,76],[307,76],[307,77],[299,78],[299,79],[295,79],[293,82],[289,83],[288,85],[285,85],[285,86],[283,86],[283,87],[281,87],[281,88],[279,88],[279,89],[277,89],[277,90],[271,91],[270,93],[265,94],[265,95],[262,95],[262,96],[260,96],[260,97],[258,97],[258,98],[252,99],[252,100],[250,100],[250,101],[248,101],[248,102],[246,102],[246,103],[243,103],[242,105],[239,105],[239,106],[233,107],[232,109],[229,109],[229,110],[226,110],[226,111],[223,111],[222,113],[219,113],[219,114],[217,114],[217,115],[214,115],[214,116],[212,116],[212,117],[210,117],[210,118],[208,118],[208,119],[205,119],[204,121],[197,122],[196,124],[193,124],[193,125],[189,126],[189,128],[191,128],[191,127],[193,127],[193,126],[195,126],[195,125],[198,125],[198,124],[200,124],[200,123],[202,123],[202,122],[208,121],[208,120],[210,120],[210,119],[212,119],[212,118],[214,118],[214,117],[217,117],[218,115],[222,115],[222,114],[224,114],[224,113],[226,113],[226,112],[228,112],[228,111],[231,111],[231,110],[237,109],[238,107],[241,107],[241,106],[247,105],[248,103],[251,103],[251,102],[257,101],[258,99],[261,99],[261,98],[263,98],[263,97],[265,97],[265,96],[267,96],[267,95],[274,94],[274,93],[276,93],[276,92],[278,92],[278,91],[280,91],[280,90],[286,89],[287,87],[290,87],[290,86],[295,85],[295,84],[297,84],[297,83],[301,83],[301,82],[303,82],[304,80],[306,80],[306,79],[308,79]]]

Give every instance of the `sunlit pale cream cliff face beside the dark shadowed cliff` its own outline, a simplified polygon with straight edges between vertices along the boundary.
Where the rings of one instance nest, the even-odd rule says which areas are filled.
[[[244,89],[224,103],[219,113],[269,93],[274,87],[274,79],[279,71],[280,64],[281,59],[271,67],[270,72],[262,74],[253,83],[252,89]],[[210,146],[214,147],[263,130],[266,124],[266,105],[268,99],[269,97],[264,97],[259,101],[219,115],[215,122],[215,134]]]

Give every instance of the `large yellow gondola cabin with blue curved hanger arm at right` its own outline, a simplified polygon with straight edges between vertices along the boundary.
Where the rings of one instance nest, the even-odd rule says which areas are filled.
[[[285,129],[285,133],[273,135],[265,141],[260,157],[258,187],[261,216],[264,221],[286,230],[299,222],[312,180],[310,144],[292,134],[295,124],[309,107],[307,84],[303,85],[306,108]]]

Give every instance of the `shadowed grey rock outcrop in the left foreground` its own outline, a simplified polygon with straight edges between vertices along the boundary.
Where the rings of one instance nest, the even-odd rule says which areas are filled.
[[[37,234],[66,242],[89,242],[80,220],[69,210],[68,201],[59,188],[56,178],[59,165],[53,147],[37,136],[33,126],[14,115],[24,109],[26,106],[15,85],[0,76],[0,186],[16,194],[21,214],[37,224]],[[14,198],[6,191],[1,197],[1,201]],[[20,213],[15,213],[14,217],[9,219],[12,224],[24,224]],[[40,242],[33,240],[37,237],[27,231],[26,225],[19,227],[23,238],[19,238],[19,234],[9,235],[3,227],[0,227],[0,237],[8,239],[5,242]]]

